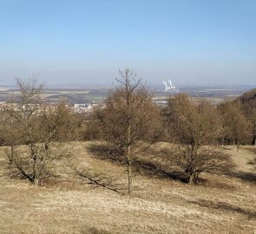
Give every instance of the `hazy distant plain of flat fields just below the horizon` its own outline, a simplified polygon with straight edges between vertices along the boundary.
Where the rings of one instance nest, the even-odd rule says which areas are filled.
[[[202,87],[181,87],[180,92],[186,93],[195,100],[198,98],[207,98],[213,104],[218,104],[226,99],[234,99],[240,94],[245,93],[252,87],[237,88],[202,88]],[[70,103],[89,103],[91,101],[102,101],[108,95],[110,88],[46,88],[43,89],[42,97],[51,102],[57,102],[58,99],[66,99]],[[163,91],[161,87],[151,87],[150,92],[157,101],[166,101],[170,95],[176,94]],[[0,90],[0,101],[8,101],[10,96],[16,96],[16,89]]]

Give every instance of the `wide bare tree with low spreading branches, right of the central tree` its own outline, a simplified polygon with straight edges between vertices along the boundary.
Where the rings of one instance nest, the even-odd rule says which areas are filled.
[[[220,133],[220,115],[207,101],[194,103],[186,94],[169,98],[166,120],[177,143],[174,160],[187,173],[189,184],[197,183],[200,172],[230,168],[230,158],[205,148]]]

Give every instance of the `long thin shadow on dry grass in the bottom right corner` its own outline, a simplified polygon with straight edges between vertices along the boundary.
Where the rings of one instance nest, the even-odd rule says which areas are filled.
[[[211,200],[200,199],[198,201],[190,201],[190,203],[193,203],[195,205],[200,205],[202,207],[213,208],[216,210],[237,212],[237,213],[240,213],[241,215],[244,215],[250,219],[256,218],[256,211],[247,211],[244,208],[241,208],[241,207],[235,206],[235,205],[230,205],[225,202],[213,202]]]

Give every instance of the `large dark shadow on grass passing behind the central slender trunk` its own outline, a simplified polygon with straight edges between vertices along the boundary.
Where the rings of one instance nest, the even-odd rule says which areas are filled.
[[[89,146],[89,152],[92,153],[97,159],[104,159],[121,165],[126,164],[125,157],[120,156],[120,151],[118,151],[118,149],[113,146],[92,145]],[[177,170],[167,171],[163,166],[145,159],[134,160],[133,170],[136,173],[150,176],[151,178],[154,177],[158,179],[174,179],[183,183],[187,183],[187,177],[184,172]]]

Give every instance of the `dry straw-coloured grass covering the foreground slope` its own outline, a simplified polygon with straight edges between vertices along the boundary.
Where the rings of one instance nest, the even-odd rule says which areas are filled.
[[[88,167],[126,182],[125,166],[95,158],[92,144],[73,143],[72,157],[56,164],[44,187],[12,178],[0,148],[0,233],[255,233],[256,181],[246,178],[254,154],[246,148],[224,147],[237,172],[203,174],[200,185],[137,173],[128,199],[75,174]]]

